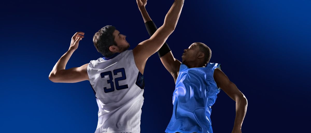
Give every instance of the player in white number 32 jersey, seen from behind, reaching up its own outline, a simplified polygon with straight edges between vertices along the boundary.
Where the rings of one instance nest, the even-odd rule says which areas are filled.
[[[95,48],[104,57],[80,67],[65,69],[78,48],[83,32],[73,35],[69,50],[58,60],[49,75],[53,82],[75,83],[89,80],[99,107],[95,133],[139,133],[143,104],[143,72],[147,59],[156,53],[174,31],[184,0],[175,0],[164,24],[154,35],[133,50],[127,50],[126,36],[107,25],[95,33]]]

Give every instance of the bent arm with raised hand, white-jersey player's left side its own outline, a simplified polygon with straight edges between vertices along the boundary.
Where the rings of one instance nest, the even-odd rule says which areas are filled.
[[[86,70],[88,64],[84,64],[80,67],[65,69],[66,64],[72,53],[78,48],[79,41],[82,40],[82,38],[84,37],[83,35],[83,32],[77,32],[72,36],[71,44],[68,51],[58,60],[58,62],[53,67],[49,75],[49,80],[51,80],[52,82],[61,83],[75,83],[89,80],[89,76]]]

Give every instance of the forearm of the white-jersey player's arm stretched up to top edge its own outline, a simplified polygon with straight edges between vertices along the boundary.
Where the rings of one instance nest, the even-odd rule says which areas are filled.
[[[183,8],[184,0],[175,0],[172,7],[169,9],[169,12],[165,16],[164,26],[166,28],[175,29],[181,10]]]

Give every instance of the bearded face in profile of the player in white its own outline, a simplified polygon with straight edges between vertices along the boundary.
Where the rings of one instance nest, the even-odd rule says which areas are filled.
[[[126,36],[123,34],[120,34],[120,31],[114,30],[113,35],[114,35],[114,41],[117,43],[117,46],[115,45],[110,46],[109,50],[111,52],[121,53],[130,47],[130,44],[128,43],[128,41],[126,41]]]

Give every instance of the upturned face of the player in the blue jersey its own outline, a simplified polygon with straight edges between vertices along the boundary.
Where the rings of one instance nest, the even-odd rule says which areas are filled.
[[[193,43],[189,48],[183,50],[183,55],[181,56],[183,63],[196,62],[198,59],[204,58],[204,53],[200,51],[197,44]]]

